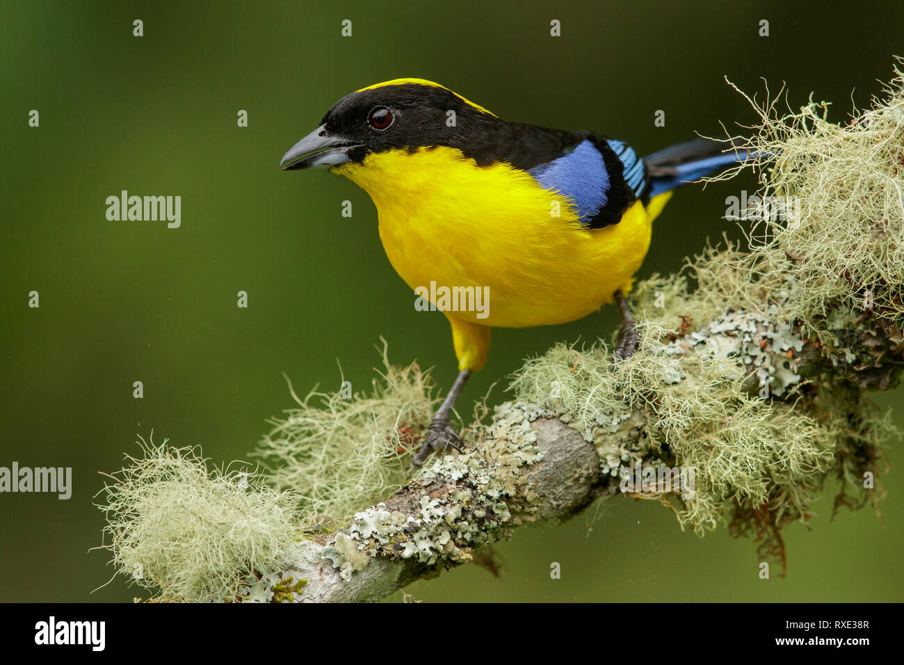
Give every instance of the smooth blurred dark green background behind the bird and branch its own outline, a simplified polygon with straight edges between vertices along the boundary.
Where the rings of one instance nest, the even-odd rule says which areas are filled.
[[[144,36],[132,34],[135,19]],[[340,34],[353,22],[353,36]],[[550,36],[559,19],[561,37]],[[758,36],[769,21],[770,35]],[[849,3],[5,3],[0,236],[0,466],[71,466],[73,494],[0,495],[0,600],[127,601],[93,506],[100,470],[137,454],[137,434],[248,459],[298,392],[360,390],[390,356],[456,374],[447,322],[412,307],[363,191],[325,172],[278,169],[335,100],[378,81],[439,81],[506,119],[586,128],[645,154],[750,124],[747,102],[786,81],[833,119],[865,105],[904,55],[904,5]],[[877,81],[879,80],[879,81]],[[28,127],[28,112],[40,127]],[[247,109],[249,127],[236,126]],[[664,128],[654,111],[664,109]],[[641,277],[674,271],[725,230],[725,197],[752,177],[692,186],[654,227]],[[109,222],[105,200],[181,195],[182,226]],[[353,202],[351,219],[341,216]],[[28,293],[40,292],[40,309]],[[249,293],[249,309],[236,292]],[[607,337],[614,308],[557,328],[497,329],[460,406],[558,340]],[[143,381],[144,399],[132,384]],[[880,395],[900,402],[901,389]],[[494,400],[504,394],[497,389]],[[904,424],[900,413],[897,422]],[[613,501],[499,546],[495,580],[463,566],[410,592],[427,601],[900,601],[904,482],[894,465],[882,518],[786,530],[786,579],[758,579],[755,545],[724,529],[683,533],[654,502]],[[562,566],[551,580],[551,562]],[[400,594],[394,596],[400,598]]]

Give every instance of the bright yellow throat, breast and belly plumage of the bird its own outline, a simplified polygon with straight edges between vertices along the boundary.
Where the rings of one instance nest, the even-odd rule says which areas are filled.
[[[570,198],[454,148],[392,150],[333,170],[371,195],[383,248],[411,289],[485,288],[485,311],[447,312],[483,326],[582,318],[630,289],[650,244],[654,214],[640,202],[620,223],[587,230]]]

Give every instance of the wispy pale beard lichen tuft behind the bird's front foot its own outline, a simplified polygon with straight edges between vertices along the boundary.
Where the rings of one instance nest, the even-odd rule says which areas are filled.
[[[386,499],[410,477],[416,450],[438,400],[428,373],[412,363],[391,366],[385,341],[384,369],[370,394],[312,391],[252,454],[268,480],[295,490],[306,527],[334,528],[356,510]],[[293,396],[295,394],[293,393]]]

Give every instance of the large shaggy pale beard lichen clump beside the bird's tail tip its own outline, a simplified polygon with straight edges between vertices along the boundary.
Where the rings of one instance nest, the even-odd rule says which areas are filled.
[[[785,214],[754,221],[750,252],[742,261],[718,261],[734,263],[752,279],[724,280],[710,271],[717,279],[701,286],[711,288],[716,301],[729,298],[741,307],[762,304],[759,289],[789,290],[792,298],[781,313],[806,324],[838,305],[899,322],[904,317],[904,74],[896,66],[884,98],[855,111],[845,124],[830,122],[829,105],[812,98],[797,113],[780,115],[780,99],[781,93],[760,105],[748,98],[760,122],[752,127],[753,137],[742,140],[753,153],[774,158],[761,174],[758,195],[790,204],[781,211]],[[730,178],[745,167],[711,179]]]

